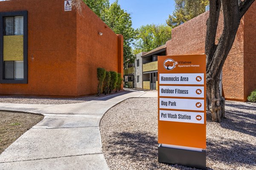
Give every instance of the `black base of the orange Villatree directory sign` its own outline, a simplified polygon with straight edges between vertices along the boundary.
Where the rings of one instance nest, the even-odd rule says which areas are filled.
[[[180,164],[187,167],[206,169],[206,150],[202,152],[193,150],[158,147],[158,161],[167,164]]]

